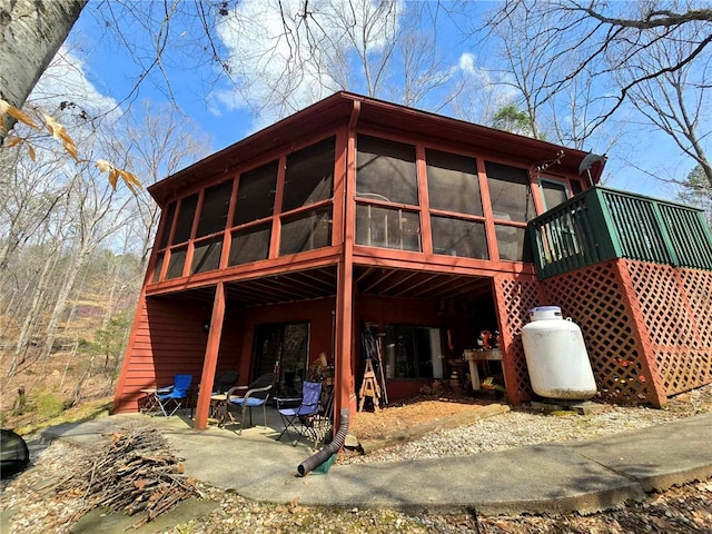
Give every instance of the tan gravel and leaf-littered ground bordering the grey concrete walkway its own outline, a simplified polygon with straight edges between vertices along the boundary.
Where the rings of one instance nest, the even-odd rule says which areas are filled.
[[[426,405],[423,405],[426,406]],[[404,408],[405,409],[405,408]],[[417,409],[417,408],[407,408]],[[425,409],[425,408],[424,408]],[[426,411],[431,411],[428,407]],[[665,409],[606,407],[600,414],[567,416],[514,411],[472,425],[431,433],[411,443],[342,462],[385,462],[501,451],[536,443],[595,437],[712,411],[712,386],[678,396]],[[388,409],[382,411],[388,417]],[[395,412],[395,411],[394,411]],[[404,418],[400,411],[397,416]],[[413,416],[413,424],[425,416]],[[483,439],[482,436],[486,436]],[[81,498],[58,500],[56,484],[86,451],[55,442],[41,452],[34,467],[2,483],[2,532],[68,533],[78,520]],[[160,531],[169,534],[216,533],[712,533],[712,481],[701,481],[653,494],[620,510],[581,516],[408,515],[393,510],[332,510],[298,502],[271,505],[198,483],[202,497],[216,503],[204,517]],[[7,528],[7,530],[4,530]]]

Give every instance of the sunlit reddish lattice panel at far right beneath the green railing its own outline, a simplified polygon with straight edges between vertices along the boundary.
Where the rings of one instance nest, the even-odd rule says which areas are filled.
[[[712,382],[712,273],[626,260],[665,395]]]

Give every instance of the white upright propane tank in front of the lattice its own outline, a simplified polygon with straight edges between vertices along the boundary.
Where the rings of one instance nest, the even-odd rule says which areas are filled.
[[[581,328],[571,318],[564,320],[558,306],[532,308],[530,317],[522,342],[534,393],[564,400],[593,397],[596,382]]]

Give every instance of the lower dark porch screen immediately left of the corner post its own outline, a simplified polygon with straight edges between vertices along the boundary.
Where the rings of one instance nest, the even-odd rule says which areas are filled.
[[[289,217],[281,222],[279,255],[301,253],[332,244],[332,207]]]

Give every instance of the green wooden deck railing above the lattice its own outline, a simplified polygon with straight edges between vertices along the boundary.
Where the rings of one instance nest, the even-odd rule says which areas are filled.
[[[528,235],[541,279],[613,258],[712,270],[701,209],[606,187],[538,216]]]

